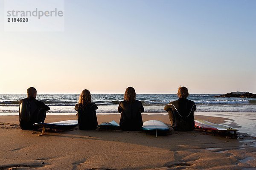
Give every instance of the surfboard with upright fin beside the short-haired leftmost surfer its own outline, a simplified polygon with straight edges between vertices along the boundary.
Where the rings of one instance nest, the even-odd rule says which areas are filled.
[[[42,133],[39,136],[44,135],[45,128],[53,128],[53,129],[72,129],[73,127],[76,127],[78,125],[77,120],[65,120],[60,122],[51,122],[51,123],[34,123],[34,126],[41,126],[43,127]]]

